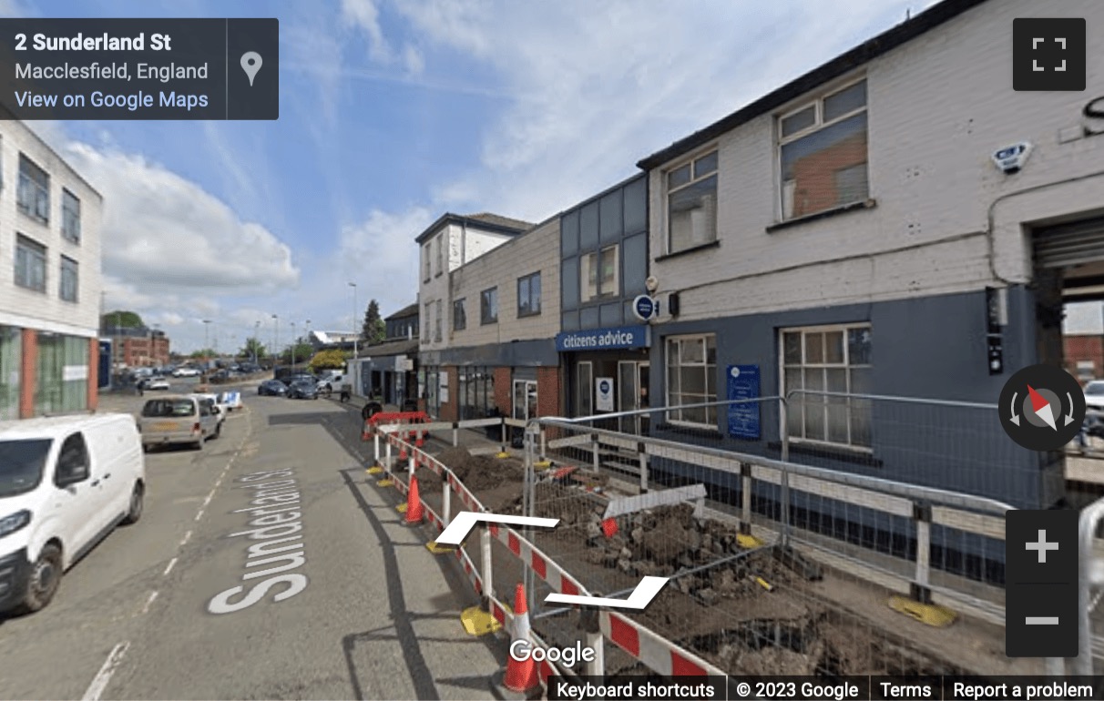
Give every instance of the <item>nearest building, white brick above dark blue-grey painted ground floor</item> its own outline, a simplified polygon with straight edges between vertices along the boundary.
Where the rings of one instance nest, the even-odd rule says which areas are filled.
[[[1012,89],[1012,21],[1032,17],[1086,19],[1086,91]],[[1011,372],[1060,361],[1063,295],[1104,290],[1101,46],[1104,3],[946,0],[644,159],[664,312],[655,404],[724,400],[736,364],[757,365],[764,396],[995,403]],[[1020,142],[1032,145],[1022,169],[998,169],[992,155]],[[792,445],[1020,508],[1060,499],[1060,459],[956,445],[940,465],[911,463],[921,432],[878,406],[792,411]],[[668,425],[777,452],[776,404],[758,435],[724,414],[672,412]],[[978,446],[1013,445],[995,417],[983,434]],[[1000,465],[976,469],[986,460]]]

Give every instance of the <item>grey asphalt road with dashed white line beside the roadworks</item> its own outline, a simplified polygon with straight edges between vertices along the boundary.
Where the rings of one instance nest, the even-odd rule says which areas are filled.
[[[358,414],[243,396],[202,450],[147,456],[141,521],[49,607],[0,618],[0,698],[491,698],[507,644],[465,635],[477,599],[367,482]]]

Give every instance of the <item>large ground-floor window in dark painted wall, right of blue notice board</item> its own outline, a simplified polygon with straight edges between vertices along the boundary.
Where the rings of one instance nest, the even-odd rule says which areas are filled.
[[[794,440],[870,448],[870,401],[834,396],[870,392],[870,325],[782,331],[782,386]]]

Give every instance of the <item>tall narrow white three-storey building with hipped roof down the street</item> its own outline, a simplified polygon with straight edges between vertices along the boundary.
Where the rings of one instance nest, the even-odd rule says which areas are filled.
[[[421,248],[418,305],[422,338],[418,344],[418,397],[436,415],[447,379],[442,384],[438,367],[448,348],[447,330],[453,302],[448,274],[510,241],[532,224],[497,214],[446,213],[417,236]],[[445,402],[447,404],[447,402]]]

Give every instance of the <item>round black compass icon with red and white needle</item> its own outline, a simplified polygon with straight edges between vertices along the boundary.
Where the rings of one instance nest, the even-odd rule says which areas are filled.
[[[1081,432],[1085,395],[1061,368],[1029,365],[1005,383],[998,410],[1012,440],[1029,450],[1058,450]]]

